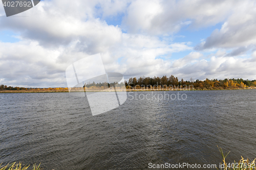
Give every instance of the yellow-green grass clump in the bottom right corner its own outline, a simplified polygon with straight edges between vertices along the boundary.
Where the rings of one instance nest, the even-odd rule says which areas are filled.
[[[223,160],[223,164],[220,167],[221,169],[224,169],[224,170],[230,170],[230,169],[233,169],[233,170],[253,170],[253,169],[256,169],[256,165],[255,165],[255,160],[256,159],[254,159],[252,162],[249,162],[248,158],[244,159],[241,156],[242,159],[239,162],[234,161],[233,163],[227,163],[225,158],[227,157],[229,152],[224,154],[222,148],[218,147],[218,149],[221,153],[222,160]]]

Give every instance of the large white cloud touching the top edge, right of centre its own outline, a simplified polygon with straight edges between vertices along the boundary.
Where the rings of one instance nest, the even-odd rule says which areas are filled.
[[[137,0],[127,8],[122,26],[131,33],[173,34],[182,27],[214,26],[239,3],[232,1],[144,1]]]

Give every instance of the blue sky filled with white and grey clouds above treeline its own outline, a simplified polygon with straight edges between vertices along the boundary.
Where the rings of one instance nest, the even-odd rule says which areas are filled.
[[[67,87],[66,68],[98,53],[125,80],[254,80],[255,16],[253,0],[51,0],[10,17],[0,4],[0,84]]]

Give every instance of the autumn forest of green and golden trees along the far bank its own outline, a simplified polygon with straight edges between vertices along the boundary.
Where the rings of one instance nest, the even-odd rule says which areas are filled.
[[[124,81],[126,89],[145,89],[145,90],[156,90],[156,89],[195,89],[195,90],[214,90],[214,89],[244,89],[244,88],[256,88],[256,80],[243,80],[241,79],[206,79],[204,81],[194,81],[190,78],[189,81],[178,80],[177,77],[171,75],[169,77],[140,77],[130,78],[129,81]],[[115,85],[116,89],[123,89],[123,83],[87,83],[83,87],[84,90],[100,90],[111,88]],[[0,85],[0,90],[29,90],[29,91],[68,91],[67,87],[58,88],[25,88],[25,87],[12,87],[7,85]]]

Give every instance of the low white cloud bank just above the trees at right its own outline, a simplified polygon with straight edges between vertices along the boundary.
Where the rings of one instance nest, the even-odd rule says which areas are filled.
[[[175,69],[175,75],[189,80],[194,79],[224,79],[224,78],[243,78],[254,80],[256,71],[255,56],[249,59],[235,57],[210,57],[209,60],[198,60],[194,63],[187,63],[179,69]]]

